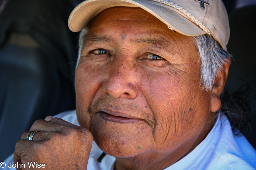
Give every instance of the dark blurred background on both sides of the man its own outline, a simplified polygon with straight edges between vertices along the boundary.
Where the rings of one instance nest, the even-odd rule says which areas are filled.
[[[0,162],[35,120],[75,109],[79,33],[71,32],[67,21],[80,2],[0,0]],[[256,0],[223,2],[231,30],[227,50],[235,59],[226,87],[233,94],[247,88],[254,130],[247,139],[256,148]]]

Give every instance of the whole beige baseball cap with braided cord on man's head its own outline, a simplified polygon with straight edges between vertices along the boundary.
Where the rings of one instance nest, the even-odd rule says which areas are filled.
[[[81,31],[93,17],[115,6],[142,8],[183,35],[212,35],[227,50],[229,19],[221,0],[86,0],[72,11],[68,27]]]

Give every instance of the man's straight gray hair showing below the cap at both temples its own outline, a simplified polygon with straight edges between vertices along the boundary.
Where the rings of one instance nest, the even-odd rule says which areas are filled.
[[[76,67],[80,60],[87,32],[88,27],[84,28],[79,35]],[[214,79],[216,78],[217,73],[223,69],[223,63],[228,62],[229,58],[232,56],[226,50],[223,50],[220,44],[213,39],[212,36],[204,34],[192,38],[199,53],[198,55],[201,65],[200,84],[203,89],[210,91],[213,88]]]

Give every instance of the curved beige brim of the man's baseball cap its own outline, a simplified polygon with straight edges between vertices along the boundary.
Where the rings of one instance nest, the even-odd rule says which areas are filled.
[[[205,32],[186,19],[179,11],[148,0],[88,0],[80,3],[70,14],[68,27],[73,32],[81,31],[88,22],[103,10],[116,6],[139,7],[151,13],[173,30],[187,36],[203,35]]]

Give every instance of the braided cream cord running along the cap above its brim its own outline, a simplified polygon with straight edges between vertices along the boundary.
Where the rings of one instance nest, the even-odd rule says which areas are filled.
[[[198,25],[203,31],[206,32],[206,34],[212,35],[212,31],[210,31],[209,28],[207,28],[203,23],[201,23],[198,19],[196,19],[196,17],[194,17],[191,13],[189,13],[187,10],[185,10],[181,6],[179,6],[173,2],[165,1],[165,0],[148,0],[148,1],[159,2],[159,3],[168,5],[174,9],[178,10],[179,12],[182,12],[186,19],[188,19],[188,20],[192,21],[193,23],[195,23],[196,25]]]

